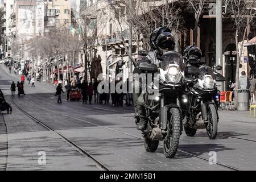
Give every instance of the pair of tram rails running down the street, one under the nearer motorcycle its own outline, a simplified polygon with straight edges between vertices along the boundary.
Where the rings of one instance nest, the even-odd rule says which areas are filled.
[[[60,133],[57,132],[56,130],[52,129],[52,127],[46,125],[46,123],[40,121],[40,119],[37,119],[37,118],[33,117],[31,114],[29,114],[29,113],[27,113],[26,111],[24,111],[23,109],[21,109],[21,108],[14,102],[13,99],[11,99],[11,100],[13,101],[13,104],[14,104],[20,111],[22,111],[24,114],[28,115],[28,117],[30,117],[30,118],[33,119],[34,121],[40,123],[41,125],[43,125],[44,127],[46,127],[48,130],[51,130],[51,131],[57,133],[57,134],[60,135],[62,138],[64,138],[68,143],[71,143],[71,144],[72,144],[73,146],[75,146],[78,150],[80,150],[83,154],[88,155],[90,158],[92,158],[93,160],[95,160],[102,168],[104,168],[105,170],[109,170],[109,169],[106,167],[106,164],[104,164],[104,163],[102,163],[102,162],[99,162],[96,158],[94,158],[93,155],[90,155],[88,151],[83,150],[81,147],[77,146],[77,144],[75,144],[74,142],[72,142],[70,139],[66,138],[63,134],[60,134]],[[36,105],[34,102],[31,102],[31,101],[27,100],[26,98],[24,98],[24,100],[30,102],[31,104]],[[50,109],[48,109],[48,108],[46,108],[46,107],[43,107],[43,106],[41,106],[41,105],[37,105],[37,106],[42,107],[42,109],[45,109],[45,110],[47,110],[47,111],[50,111],[51,113],[56,114],[56,111],[52,111],[52,110],[50,110]],[[133,135],[133,134],[129,134],[129,133],[125,133],[125,132],[122,132],[122,131],[119,131],[119,130],[115,130],[115,129],[111,128],[111,127],[106,127],[106,126],[98,125],[98,124],[93,123],[93,122],[85,121],[84,119],[80,119],[80,118],[76,118],[76,117],[71,117],[71,116],[69,116],[69,115],[65,115],[65,114],[61,114],[61,113],[58,113],[58,114],[59,114],[59,115],[63,115],[64,117],[67,117],[67,118],[75,119],[75,120],[77,120],[77,121],[86,122],[86,123],[89,123],[89,124],[94,125],[94,126],[98,126],[98,127],[104,128],[104,129],[112,130],[112,131],[115,131],[115,132],[117,132],[117,133],[121,133],[121,134],[124,134],[124,135],[129,135],[130,137],[133,137],[133,138],[137,138],[137,139],[144,140],[142,137],[137,137],[137,136],[135,136],[135,135]],[[200,132],[201,132],[201,131],[200,131]],[[220,135],[220,136],[221,136],[221,135]],[[222,136],[228,136],[228,135],[222,135]],[[229,137],[232,137],[232,136],[229,136]],[[232,137],[232,138],[242,139],[242,138],[237,138],[237,137]],[[247,140],[247,139],[245,139],[245,140]],[[255,142],[254,140],[249,140],[249,139],[248,139],[247,141]],[[159,143],[159,145],[163,146],[163,145],[160,144],[160,143]],[[197,156],[197,155],[195,155],[195,154],[192,154],[192,153],[190,153],[190,152],[183,151],[183,150],[180,150],[180,149],[178,149],[177,151],[180,152],[181,154],[184,154],[184,155],[187,155],[187,156],[192,156],[192,157],[194,157],[194,158],[197,158],[197,159],[200,159],[200,160],[204,160],[205,162],[209,162],[209,159],[208,159],[208,158],[204,158],[204,157],[202,157],[202,156]],[[230,169],[230,170],[232,170],[232,171],[241,171],[241,169],[238,169],[238,168],[236,168],[236,167],[229,166],[229,165],[227,165],[227,164],[223,164],[223,163],[220,163],[220,162],[216,162],[215,164],[218,165],[218,166],[221,166],[221,167],[228,168],[228,169]]]

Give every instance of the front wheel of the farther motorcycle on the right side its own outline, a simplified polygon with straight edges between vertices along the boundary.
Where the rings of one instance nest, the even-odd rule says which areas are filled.
[[[217,111],[213,104],[207,106],[207,117],[208,117],[208,126],[207,126],[207,135],[209,139],[215,139],[217,137],[218,131],[218,118]]]

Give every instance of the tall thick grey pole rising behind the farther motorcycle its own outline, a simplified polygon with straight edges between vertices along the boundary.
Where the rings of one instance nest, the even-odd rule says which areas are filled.
[[[222,66],[222,0],[216,0],[216,66]],[[222,75],[222,71],[220,71]],[[220,82],[219,90],[223,90]]]

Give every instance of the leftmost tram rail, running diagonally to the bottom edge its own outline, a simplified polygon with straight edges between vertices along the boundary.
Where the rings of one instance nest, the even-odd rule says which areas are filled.
[[[28,117],[30,117],[32,120],[34,120],[35,122],[39,123],[40,125],[42,125],[43,127],[45,127],[47,130],[52,131],[54,133],[56,133],[57,135],[59,135],[65,142],[71,144],[71,146],[75,147],[77,151],[80,152],[81,155],[84,156],[88,156],[90,159],[92,159],[97,165],[98,167],[100,167],[101,169],[105,170],[105,171],[110,171],[110,169],[108,167],[105,166],[104,163],[102,163],[100,160],[94,158],[93,155],[91,155],[88,151],[84,150],[83,148],[81,148],[80,146],[78,146],[75,142],[72,142],[70,139],[68,139],[67,137],[65,137],[63,134],[59,133],[58,131],[56,131],[55,129],[53,129],[51,126],[47,125],[46,123],[40,121],[40,119],[33,117],[31,114],[27,113],[26,111],[24,111],[21,107],[19,107],[13,99],[11,99],[13,101],[13,104],[15,105],[15,107],[17,109],[19,109],[20,111],[22,111],[22,113],[24,113],[25,115],[27,115]]]

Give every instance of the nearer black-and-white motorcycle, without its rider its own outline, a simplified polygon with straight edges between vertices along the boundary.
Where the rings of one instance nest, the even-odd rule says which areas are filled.
[[[181,96],[186,93],[183,91],[185,81],[181,67],[184,67],[183,57],[175,51],[163,54],[159,68],[146,62],[139,64],[142,72],[154,73],[154,81],[147,85],[147,90],[154,89],[157,92],[146,91],[143,94],[147,118],[146,129],[142,132],[144,148],[154,152],[159,141],[163,140],[166,158],[174,158],[183,130],[180,102]]]

